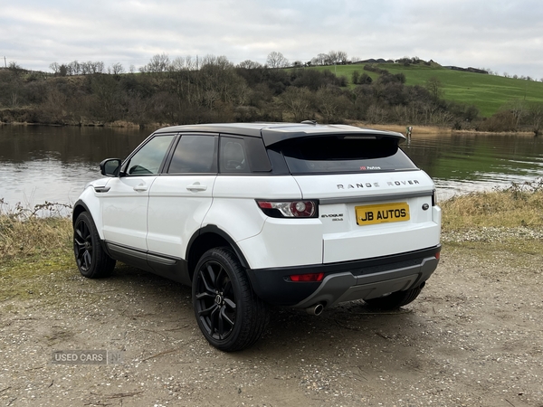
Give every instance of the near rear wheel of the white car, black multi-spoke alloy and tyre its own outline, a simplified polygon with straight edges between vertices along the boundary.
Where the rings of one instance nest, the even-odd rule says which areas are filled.
[[[206,251],[193,279],[195,317],[205,339],[234,352],[253,345],[268,324],[269,313],[236,255],[229,248]]]

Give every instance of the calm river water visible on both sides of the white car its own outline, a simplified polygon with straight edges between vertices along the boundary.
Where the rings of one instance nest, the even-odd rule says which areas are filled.
[[[0,126],[0,199],[73,204],[106,157],[128,156],[151,130]],[[402,147],[433,177],[439,199],[543,176],[543,137],[440,134]]]

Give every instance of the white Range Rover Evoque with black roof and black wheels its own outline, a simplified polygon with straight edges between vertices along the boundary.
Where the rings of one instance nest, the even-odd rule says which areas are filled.
[[[252,345],[268,304],[391,309],[437,267],[441,210],[399,133],[315,122],[161,128],[73,208],[81,274],[119,260],[192,286],[198,326]]]

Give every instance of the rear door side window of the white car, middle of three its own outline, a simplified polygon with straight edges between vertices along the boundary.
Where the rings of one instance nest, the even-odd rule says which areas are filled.
[[[216,173],[216,145],[214,136],[182,136],[167,173]]]

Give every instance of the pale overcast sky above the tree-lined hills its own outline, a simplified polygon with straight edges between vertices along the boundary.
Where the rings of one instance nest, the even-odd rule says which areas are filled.
[[[541,79],[543,1],[0,0],[3,66],[119,62],[129,71],[161,53],[264,64],[273,51],[291,62],[330,51],[417,56]]]

